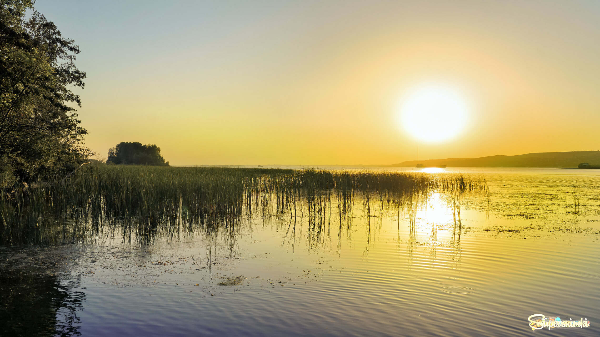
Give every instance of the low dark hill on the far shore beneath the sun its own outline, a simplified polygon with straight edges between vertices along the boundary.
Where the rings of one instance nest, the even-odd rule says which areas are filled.
[[[409,160],[391,166],[415,167],[416,164],[423,164],[447,167],[577,167],[581,163],[600,166],[600,151],[536,152],[516,156]]]

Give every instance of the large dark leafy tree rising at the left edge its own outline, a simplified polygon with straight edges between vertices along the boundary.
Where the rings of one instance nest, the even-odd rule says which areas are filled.
[[[0,0],[0,185],[70,169],[91,155],[71,107],[81,106],[71,88],[83,88],[86,77],[74,64],[79,47],[33,5]]]

